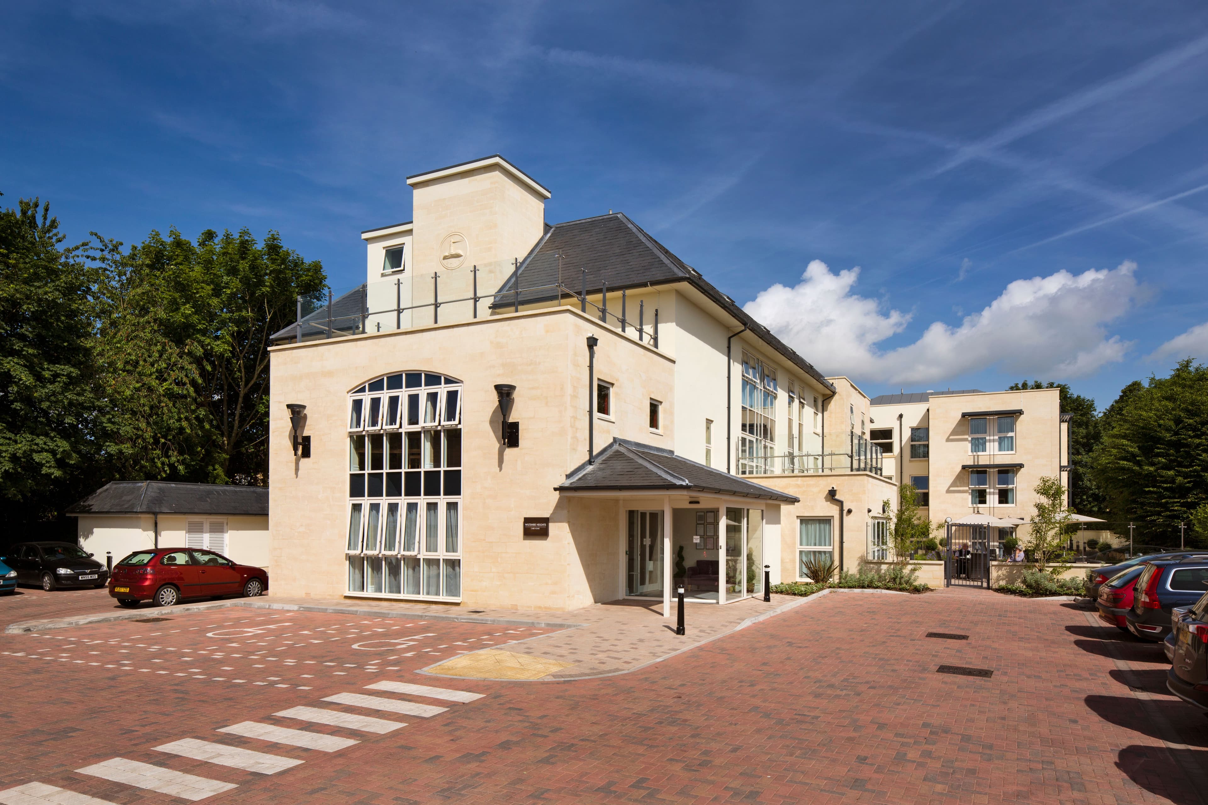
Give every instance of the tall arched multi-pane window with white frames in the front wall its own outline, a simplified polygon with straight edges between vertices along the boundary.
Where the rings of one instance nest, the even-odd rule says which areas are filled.
[[[348,591],[461,599],[461,381],[399,372],[348,395]]]

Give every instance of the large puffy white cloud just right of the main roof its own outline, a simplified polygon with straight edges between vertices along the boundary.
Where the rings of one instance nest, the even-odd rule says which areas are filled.
[[[1128,261],[1016,280],[959,326],[935,321],[916,342],[888,350],[878,344],[902,332],[912,315],[883,311],[876,299],[853,293],[859,268],[834,274],[815,259],[801,282],[773,285],[744,309],[826,374],[916,384],[994,368],[1064,379],[1123,358],[1131,344],[1107,326],[1137,298],[1136,269]]]

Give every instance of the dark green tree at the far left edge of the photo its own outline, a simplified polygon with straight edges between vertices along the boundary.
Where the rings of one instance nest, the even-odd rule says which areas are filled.
[[[50,204],[0,211],[0,513],[10,536],[77,491],[88,439],[91,274]]]

